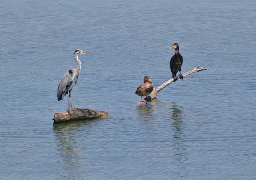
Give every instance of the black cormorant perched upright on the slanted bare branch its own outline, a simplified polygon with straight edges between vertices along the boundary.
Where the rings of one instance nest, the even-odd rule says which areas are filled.
[[[181,71],[181,66],[182,66],[182,63],[183,63],[183,57],[179,53],[178,43],[173,43],[171,48],[175,50],[175,54],[172,56],[172,58],[170,60],[170,69],[171,69],[171,72],[172,72],[172,78],[175,82],[175,81],[178,80],[178,77],[180,79],[183,79],[183,76],[182,76],[181,73],[178,77],[176,76],[177,72]]]

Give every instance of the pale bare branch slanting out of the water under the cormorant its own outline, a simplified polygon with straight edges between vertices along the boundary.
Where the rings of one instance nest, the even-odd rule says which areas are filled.
[[[186,72],[186,73],[184,73],[182,75],[183,75],[183,77],[185,77],[185,76],[188,76],[190,74],[193,74],[193,73],[196,73],[196,72],[199,72],[199,71],[204,71],[206,69],[207,68],[199,67],[199,65],[198,65],[198,66],[196,66],[196,68],[194,68],[191,71],[188,71],[188,72]],[[166,86],[168,86],[172,82],[174,82],[173,78],[169,79],[168,81],[165,81],[165,83],[163,83],[162,85],[158,86],[157,88],[154,88],[153,91],[149,94],[148,99],[145,98],[145,100],[150,101],[151,99],[155,99],[157,97],[157,94],[159,93],[159,91],[164,89]]]

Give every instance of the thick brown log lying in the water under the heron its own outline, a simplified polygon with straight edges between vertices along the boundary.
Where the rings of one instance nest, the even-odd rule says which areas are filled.
[[[64,112],[55,112],[53,114],[53,124],[77,121],[77,120],[86,120],[97,117],[107,117],[108,114],[106,111],[98,111],[87,108],[78,108],[74,107],[70,110]]]

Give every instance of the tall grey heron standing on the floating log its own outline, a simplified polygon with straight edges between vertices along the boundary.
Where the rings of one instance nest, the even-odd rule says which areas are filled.
[[[58,101],[60,101],[64,98],[66,94],[68,94],[68,109],[72,108],[71,91],[77,82],[78,74],[80,73],[80,70],[81,70],[81,61],[79,60],[78,55],[88,54],[88,53],[90,52],[77,49],[74,53],[77,67],[69,68],[68,71],[63,75],[62,79],[60,80],[60,84],[58,86],[57,98],[58,98]]]

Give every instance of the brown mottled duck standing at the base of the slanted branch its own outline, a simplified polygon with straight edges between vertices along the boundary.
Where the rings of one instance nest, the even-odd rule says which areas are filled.
[[[146,102],[146,100],[142,99],[142,96],[146,96],[146,99],[148,99],[148,95],[153,91],[153,89],[154,86],[152,84],[152,81],[149,79],[149,76],[145,76],[144,84],[138,86],[135,94],[141,96],[141,102]]]

